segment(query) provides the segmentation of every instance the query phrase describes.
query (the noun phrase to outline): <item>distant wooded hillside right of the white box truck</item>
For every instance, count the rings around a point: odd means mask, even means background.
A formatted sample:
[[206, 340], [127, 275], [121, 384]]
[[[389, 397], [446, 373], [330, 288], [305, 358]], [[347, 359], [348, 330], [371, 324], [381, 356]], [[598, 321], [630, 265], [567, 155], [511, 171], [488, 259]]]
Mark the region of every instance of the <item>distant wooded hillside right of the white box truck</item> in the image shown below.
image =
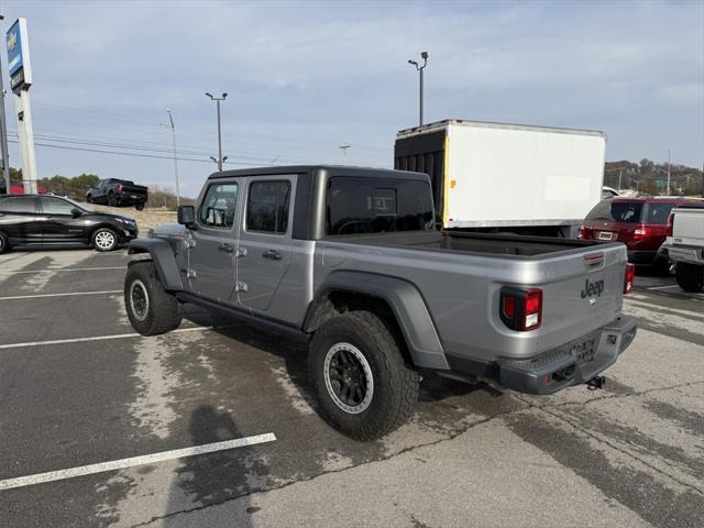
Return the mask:
[[[663, 195], [668, 186], [668, 164], [650, 160], [634, 162], [607, 162], [604, 185], [615, 189], [634, 189], [646, 195]], [[685, 165], [670, 166], [670, 194], [702, 196], [702, 170]]]

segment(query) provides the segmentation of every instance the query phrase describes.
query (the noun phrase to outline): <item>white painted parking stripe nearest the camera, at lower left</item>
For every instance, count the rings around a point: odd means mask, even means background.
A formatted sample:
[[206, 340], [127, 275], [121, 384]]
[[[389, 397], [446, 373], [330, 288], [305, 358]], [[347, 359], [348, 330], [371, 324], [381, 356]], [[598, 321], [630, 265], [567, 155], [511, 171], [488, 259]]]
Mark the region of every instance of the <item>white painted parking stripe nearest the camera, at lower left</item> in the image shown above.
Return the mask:
[[125, 468], [154, 464], [156, 462], [164, 462], [166, 460], [185, 459], [188, 457], [196, 457], [198, 454], [215, 453], [217, 451], [245, 448], [248, 446], [256, 446], [258, 443], [274, 441], [276, 441], [276, 437], [274, 436], [274, 433], [267, 432], [253, 437], [238, 438], [235, 440], [226, 440], [224, 442], [206, 443], [204, 446], [196, 446], [193, 448], [175, 449], [173, 451], [162, 451], [161, 453], [132, 457], [130, 459], [112, 460], [109, 462], [81, 465], [67, 470], [50, 471], [47, 473], [37, 473], [35, 475], [19, 476], [16, 479], [0, 481], [0, 491], [12, 490], [14, 487], [32, 486], [34, 484], [43, 484], [46, 482], [65, 481], [66, 479], [75, 479], [77, 476], [105, 473], [106, 471], [124, 470]]

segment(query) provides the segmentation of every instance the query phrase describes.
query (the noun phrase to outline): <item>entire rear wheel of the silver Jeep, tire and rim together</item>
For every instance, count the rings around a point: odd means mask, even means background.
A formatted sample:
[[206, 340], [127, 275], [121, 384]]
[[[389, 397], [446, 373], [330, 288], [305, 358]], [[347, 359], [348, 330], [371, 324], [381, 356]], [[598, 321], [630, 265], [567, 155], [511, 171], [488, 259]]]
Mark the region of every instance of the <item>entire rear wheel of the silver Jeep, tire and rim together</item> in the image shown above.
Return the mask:
[[387, 326], [369, 311], [326, 321], [310, 343], [308, 370], [322, 418], [355, 440], [397, 429], [418, 400], [418, 373], [404, 362]]

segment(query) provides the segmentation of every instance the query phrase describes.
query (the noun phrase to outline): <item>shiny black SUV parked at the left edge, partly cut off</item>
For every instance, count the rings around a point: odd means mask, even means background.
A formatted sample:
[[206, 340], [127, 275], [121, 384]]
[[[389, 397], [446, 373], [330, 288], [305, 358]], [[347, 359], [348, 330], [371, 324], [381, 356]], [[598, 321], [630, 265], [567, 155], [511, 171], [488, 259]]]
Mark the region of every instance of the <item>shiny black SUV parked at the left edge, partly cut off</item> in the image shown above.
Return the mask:
[[85, 244], [112, 251], [135, 239], [136, 222], [53, 195], [0, 195], [0, 253], [20, 245]]

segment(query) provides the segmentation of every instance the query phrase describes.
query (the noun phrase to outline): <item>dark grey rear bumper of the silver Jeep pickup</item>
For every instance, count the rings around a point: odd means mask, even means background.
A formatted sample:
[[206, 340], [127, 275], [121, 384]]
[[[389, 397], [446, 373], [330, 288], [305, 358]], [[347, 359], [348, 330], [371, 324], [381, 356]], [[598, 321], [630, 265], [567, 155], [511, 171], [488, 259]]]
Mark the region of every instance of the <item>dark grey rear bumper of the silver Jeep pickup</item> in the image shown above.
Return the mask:
[[453, 370], [526, 394], [552, 394], [586, 383], [613, 365], [636, 337], [638, 322], [620, 316], [605, 327], [530, 360], [493, 363], [448, 356]]

